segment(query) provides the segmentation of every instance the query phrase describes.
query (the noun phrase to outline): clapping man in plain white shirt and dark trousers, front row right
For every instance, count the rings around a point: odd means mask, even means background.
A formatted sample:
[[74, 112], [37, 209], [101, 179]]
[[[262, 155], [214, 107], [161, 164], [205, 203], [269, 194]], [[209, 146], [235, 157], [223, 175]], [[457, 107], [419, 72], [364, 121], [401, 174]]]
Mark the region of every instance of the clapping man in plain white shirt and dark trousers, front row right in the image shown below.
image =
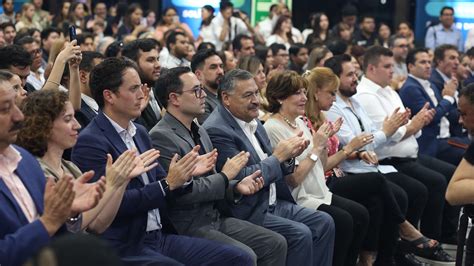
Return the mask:
[[[373, 46], [364, 55], [365, 76], [357, 86], [358, 93], [355, 97], [378, 128], [382, 127], [390, 114], [410, 112], [389, 86], [393, 65], [393, 53], [385, 47]], [[412, 120], [399, 127], [386, 144], [377, 147], [376, 151], [380, 164], [395, 166], [398, 171], [423, 183], [428, 190], [428, 200], [421, 216], [421, 232], [438, 241], [448, 239], [449, 244], [453, 244], [451, 238], [456, 237], [459, 209], [445, 205], [444, 195], [455, 167], [428, 155], [418, 155], [416, 137], [431, 122], [434, 114], [435, 111], [424, 103]], [[453, 261], [449, 256], [433, 257], [431, 260]]]

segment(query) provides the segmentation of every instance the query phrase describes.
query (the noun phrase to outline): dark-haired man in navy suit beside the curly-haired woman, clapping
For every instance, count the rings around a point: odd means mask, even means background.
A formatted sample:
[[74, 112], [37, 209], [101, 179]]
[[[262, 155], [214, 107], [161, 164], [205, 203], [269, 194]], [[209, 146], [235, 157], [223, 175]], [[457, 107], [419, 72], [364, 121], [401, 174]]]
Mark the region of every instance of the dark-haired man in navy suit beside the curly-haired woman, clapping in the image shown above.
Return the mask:
[[[104, 78], [107, 77], [107, 78]], [[108, 58], [97, 65], [90, 76], [92, 95], [101, 111], [80, 133], [72, 160], [80, 169], [105, 172], [107, 154], [118, 158], [127, 149], [141, 154], [144, 167], [155, 160], [146, 151], [152, 145], [147, 131], [132, 120], [140, 116], [142, 83], [136, 65], [128, 59]], [[179, 161], [174, 157], [168, 174], [163, 168], [151, 168], [130, 180], [115, 220], [102, 234], [130, 264], [167, 265], [215, 264], [249, 265], [250, 256], [239, 248], [213, 241], [166, 234], [166, 200], [174, 193], [192, 189], [188, 181], [197, 162], [194, 149]]]

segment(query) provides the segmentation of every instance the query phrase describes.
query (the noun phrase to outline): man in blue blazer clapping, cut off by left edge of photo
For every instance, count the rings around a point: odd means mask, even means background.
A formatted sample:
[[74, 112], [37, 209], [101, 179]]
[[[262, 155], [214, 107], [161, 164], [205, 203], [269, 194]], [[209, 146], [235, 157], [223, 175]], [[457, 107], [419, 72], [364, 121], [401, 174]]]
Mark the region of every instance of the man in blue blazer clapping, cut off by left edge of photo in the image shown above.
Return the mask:
[[74, 193], [71, 178], [63, 178], [53, 191], [38, 161], [11, 145], [24, 117], [8, 80], [0, 75], [0, 265], [20, 265], [68, 219]]

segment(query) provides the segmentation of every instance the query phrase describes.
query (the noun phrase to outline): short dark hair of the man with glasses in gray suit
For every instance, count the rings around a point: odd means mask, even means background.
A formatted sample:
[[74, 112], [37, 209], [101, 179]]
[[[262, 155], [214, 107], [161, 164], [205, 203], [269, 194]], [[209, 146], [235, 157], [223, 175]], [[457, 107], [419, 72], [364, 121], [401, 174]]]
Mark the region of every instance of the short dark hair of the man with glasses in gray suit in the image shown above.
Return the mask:
[[169, 95], [172, 92], [181, 92], [183, 90], [183, 81], [181, 75], [191, 72], [189, 67], [170, 68], [160, 76], [156, 81], [155, 95], [164, 108], [168, 107]]

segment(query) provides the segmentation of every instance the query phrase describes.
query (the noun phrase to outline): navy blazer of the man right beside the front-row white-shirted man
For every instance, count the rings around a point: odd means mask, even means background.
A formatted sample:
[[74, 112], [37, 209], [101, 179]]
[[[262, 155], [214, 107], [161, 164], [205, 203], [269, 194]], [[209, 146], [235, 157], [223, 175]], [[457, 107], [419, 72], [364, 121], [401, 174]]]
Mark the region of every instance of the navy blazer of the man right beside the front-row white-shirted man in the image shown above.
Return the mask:
[[[438, 74], [439, 75], [439, 74]], [[436, 114], [430, 124], [423, 128], [422, 134], [417, 138], [418, 145], [420, 147], [419, 152], [430, 156], [436, 156], [438, 151], [438, 138], [440, 130], [441, 118], [446, 116], [451, 123], [458, 123], [458, 112], [456, 106], [451, 104], [448, 100], [443, 99], [441, 92], [436, 88], [436, 85], [431, 82], [431, 88], [433, 89], [438, 105], [435, 106], [431, 101], [430, 96], [426, 93], [423, 86], [414, 78], [408, 77], [402, 88], [400, 89], [400, 98], [403, 104], [410, 108], [412, 114], [417, 114], [426, 102], [430, 103], [431, 108], [436, 110]]]

